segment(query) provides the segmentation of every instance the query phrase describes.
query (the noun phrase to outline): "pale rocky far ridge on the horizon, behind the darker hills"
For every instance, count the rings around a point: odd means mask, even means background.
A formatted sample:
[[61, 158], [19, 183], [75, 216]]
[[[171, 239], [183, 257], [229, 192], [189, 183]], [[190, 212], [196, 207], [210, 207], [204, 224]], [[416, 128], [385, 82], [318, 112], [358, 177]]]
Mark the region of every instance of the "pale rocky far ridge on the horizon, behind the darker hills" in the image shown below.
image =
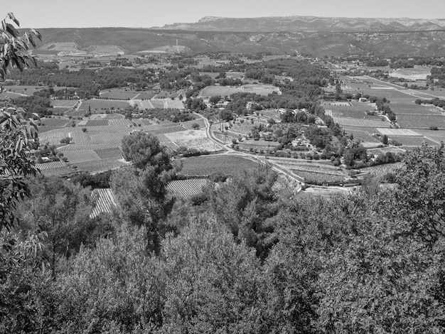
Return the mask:
[[345, 18], [318, 16], [272, 16], [225, 18], [206, 16], [196, 23], [173, 23], [166, 30], [232, 32], [365, 32], [445, 30], [444, 18]]

